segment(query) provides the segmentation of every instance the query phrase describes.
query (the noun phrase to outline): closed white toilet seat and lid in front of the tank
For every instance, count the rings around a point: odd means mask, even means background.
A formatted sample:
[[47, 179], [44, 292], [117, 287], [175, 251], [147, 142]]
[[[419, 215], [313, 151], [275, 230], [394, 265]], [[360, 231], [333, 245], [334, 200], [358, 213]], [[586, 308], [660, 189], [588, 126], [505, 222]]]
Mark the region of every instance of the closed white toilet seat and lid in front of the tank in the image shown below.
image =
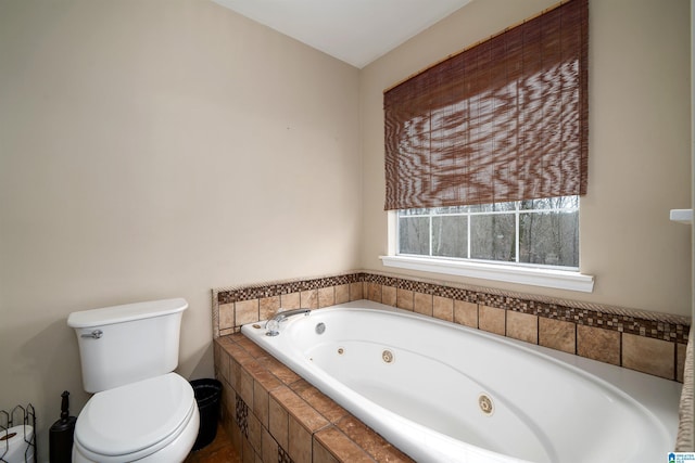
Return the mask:
[[140, 460], [172, 443], [195, 416], [191, 385], [176, 373], [96, 394], [77, 417], [75, 446], [93, 461]]

